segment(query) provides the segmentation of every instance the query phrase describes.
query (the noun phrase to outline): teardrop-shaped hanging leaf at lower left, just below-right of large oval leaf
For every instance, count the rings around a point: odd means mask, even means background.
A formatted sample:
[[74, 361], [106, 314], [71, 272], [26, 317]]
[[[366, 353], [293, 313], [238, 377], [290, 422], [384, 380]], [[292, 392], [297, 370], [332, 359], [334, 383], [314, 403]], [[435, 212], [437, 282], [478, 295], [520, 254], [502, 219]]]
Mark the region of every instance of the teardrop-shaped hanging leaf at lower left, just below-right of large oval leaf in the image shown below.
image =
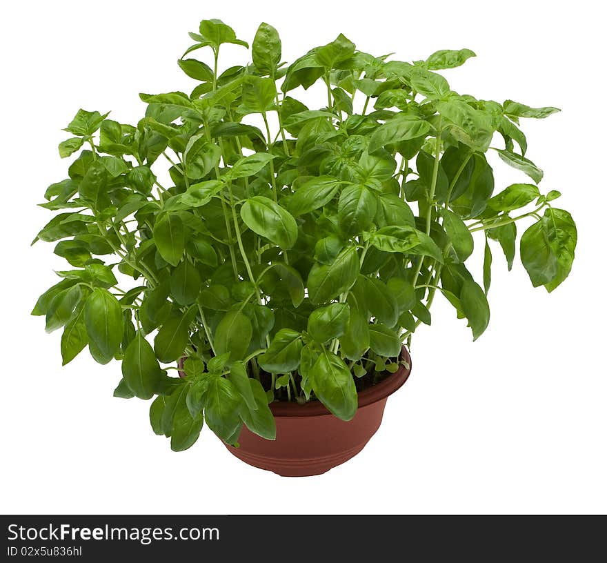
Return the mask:
[[157, 393], [163, 371], [150, 343], [137, 333], [128, 345], [122, 359], [122, 377], [128, 388], [139, 399], [150, 399]]

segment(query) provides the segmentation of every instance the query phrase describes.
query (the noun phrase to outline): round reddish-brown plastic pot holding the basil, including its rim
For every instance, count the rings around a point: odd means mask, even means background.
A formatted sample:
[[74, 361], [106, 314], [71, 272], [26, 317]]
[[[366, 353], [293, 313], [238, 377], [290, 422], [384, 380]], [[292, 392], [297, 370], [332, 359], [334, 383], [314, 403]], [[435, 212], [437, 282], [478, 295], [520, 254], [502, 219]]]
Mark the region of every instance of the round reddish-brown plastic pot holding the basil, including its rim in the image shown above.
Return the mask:
[[283, 477], [320, 475], [357, 455], [377, 432], [388, 397], [406, 382], [411, 358], [403, 346], [401, 359], [408, 364], [377, 385], [358, 394], [358, 411], [344, 422], [318, 401], [303, 405], [274, 402], [276, 439], [268, 440], [243, 426], [239, 447], [226, 444], [228, 451], [243, 462], [274, 471]]

